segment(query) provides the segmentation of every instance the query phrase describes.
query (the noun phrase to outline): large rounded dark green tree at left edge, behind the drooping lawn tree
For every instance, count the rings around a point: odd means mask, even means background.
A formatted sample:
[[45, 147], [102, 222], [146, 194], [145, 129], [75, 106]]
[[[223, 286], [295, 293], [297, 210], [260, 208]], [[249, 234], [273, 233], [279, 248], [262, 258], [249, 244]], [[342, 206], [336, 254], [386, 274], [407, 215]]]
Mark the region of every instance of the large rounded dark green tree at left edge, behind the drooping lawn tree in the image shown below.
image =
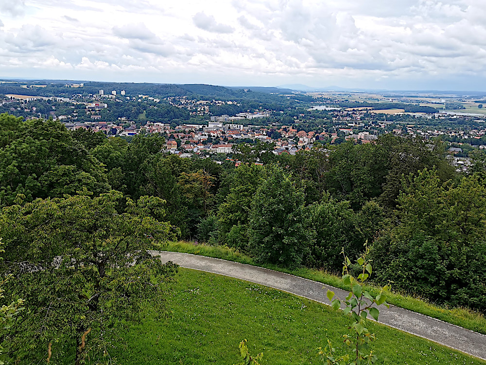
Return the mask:
[[35, 198], [109, 190], [104, 168], [60, 123], [0, 115], [0, 206]]

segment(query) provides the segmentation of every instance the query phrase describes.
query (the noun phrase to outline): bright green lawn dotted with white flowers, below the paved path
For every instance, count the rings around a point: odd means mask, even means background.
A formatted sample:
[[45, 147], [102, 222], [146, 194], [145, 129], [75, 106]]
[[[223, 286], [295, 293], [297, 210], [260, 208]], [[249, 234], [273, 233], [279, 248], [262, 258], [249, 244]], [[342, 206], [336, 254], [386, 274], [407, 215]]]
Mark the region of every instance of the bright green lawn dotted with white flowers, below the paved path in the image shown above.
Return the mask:
[[[226, 276], [180, 269], [168, 307], [172, 318], [152, 314], [126, 333], [120, 364], [238, 363], [238, 344], [263, 352], [261, 364], [317, 364], [317, 347], [329, 338], [346, 351], [341, 336], [350, 317], [330, 307]], [[377, 364], [482, 364], [486, 362], [396, 329], [371, 323]]]

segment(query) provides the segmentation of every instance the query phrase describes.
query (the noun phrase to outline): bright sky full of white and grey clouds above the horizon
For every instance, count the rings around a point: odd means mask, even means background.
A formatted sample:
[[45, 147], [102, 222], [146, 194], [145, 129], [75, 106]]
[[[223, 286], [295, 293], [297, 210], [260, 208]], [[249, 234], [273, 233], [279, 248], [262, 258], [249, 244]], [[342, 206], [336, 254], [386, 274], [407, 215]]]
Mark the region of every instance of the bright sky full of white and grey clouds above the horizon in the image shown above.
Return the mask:
[[0, 77], [486, 91], [486, 1], [0, 0]]

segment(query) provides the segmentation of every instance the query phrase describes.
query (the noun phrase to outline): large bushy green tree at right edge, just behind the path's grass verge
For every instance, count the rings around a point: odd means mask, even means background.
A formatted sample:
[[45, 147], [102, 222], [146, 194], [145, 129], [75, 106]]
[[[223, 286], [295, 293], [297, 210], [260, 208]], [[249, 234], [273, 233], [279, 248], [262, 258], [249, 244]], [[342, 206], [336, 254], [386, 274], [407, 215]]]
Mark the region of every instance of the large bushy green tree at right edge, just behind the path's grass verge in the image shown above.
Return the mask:
[[485, 310], [486, 181], [442, 184], [436, 170], [403, 180], [398, 225], [372, 246], [376, 273], [440, 303]]

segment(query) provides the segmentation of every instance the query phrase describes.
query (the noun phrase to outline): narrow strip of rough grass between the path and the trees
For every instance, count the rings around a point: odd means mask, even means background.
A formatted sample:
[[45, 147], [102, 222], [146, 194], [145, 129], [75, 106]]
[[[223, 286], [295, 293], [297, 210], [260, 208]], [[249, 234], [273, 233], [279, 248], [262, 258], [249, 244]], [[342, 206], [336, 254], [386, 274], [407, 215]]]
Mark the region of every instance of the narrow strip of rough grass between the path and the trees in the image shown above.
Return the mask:
[[[295, 270], [287, 270], [275, 265], [262, 265], [249, 256], [245, 256], [239, 252], [235, 252], [225, 246], [209, 246], [204, 244], [194, 245], [190, 242], [172, 242], [168, 246], [162, 248], [167, 251], [185, 252], [194, 255], [202, 255], [208, 257], [222, 258], [229, 261], [240, 262], [243, 264], [256, 265], [267, 269], [280, 271], [287, 274], [311, 279], [323, 284], [331, 285], [336, 288], [348, 290], [340, 276], [329, 274], [323, 270], [312, 270], [307, 268], [299, 268]], [[367, 287], [367, 290], [377, 294], [378, 287]], [[391, 292], [388, 294], [387, 302], [397, 307], [412, 310], [417, 313], [428, 315], [432, 318], [440, 319], [444, 322], [454, 324], [456, 326], [470, 329], [479, 333], [486, 334], [486, 318], [483, 314], [469, 310], [467, 308], [446, 308], [429, 303], [421, 298], [407, 295], [401, 292]]]

